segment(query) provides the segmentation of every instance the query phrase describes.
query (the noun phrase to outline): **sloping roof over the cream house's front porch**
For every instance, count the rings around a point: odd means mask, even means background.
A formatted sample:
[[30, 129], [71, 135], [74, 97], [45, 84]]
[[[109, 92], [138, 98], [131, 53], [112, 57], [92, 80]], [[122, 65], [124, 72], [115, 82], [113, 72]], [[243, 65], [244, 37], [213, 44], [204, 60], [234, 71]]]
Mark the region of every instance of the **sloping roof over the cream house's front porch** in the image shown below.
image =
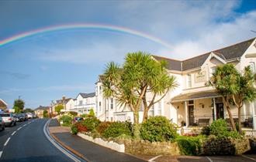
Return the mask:
[[220, 96], [216, 90], [209, 90], [203, 92], [195, 92], [195, 93], [183, 93], [175, 96], [171, 99], [171, 103], [182, 102], [187, 100], [198, 100], [203, 98], [213, 98]]

